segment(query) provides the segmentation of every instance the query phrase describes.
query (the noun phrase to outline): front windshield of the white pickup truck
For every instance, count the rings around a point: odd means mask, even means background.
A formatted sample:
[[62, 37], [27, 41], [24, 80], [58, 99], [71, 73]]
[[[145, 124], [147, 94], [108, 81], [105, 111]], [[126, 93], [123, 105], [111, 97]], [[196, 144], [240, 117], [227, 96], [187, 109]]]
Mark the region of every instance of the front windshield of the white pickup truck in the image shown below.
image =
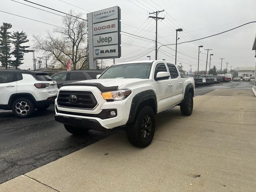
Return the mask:
[[129, 63], [113, 65], [108, 68], [99, 79], [114, 78], [140, 78], [148, 79], [150, 75], [152, 62], [150, 63]]

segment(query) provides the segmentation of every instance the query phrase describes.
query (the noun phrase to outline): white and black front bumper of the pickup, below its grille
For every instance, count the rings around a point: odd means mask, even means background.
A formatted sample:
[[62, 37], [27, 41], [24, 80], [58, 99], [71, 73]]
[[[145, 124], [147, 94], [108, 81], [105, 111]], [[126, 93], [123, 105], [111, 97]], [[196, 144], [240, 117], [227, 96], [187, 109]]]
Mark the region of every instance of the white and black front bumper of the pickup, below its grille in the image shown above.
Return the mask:
[[[55, 120], [63, 124], [84, 127], [92, 130], [106, 130], [125, 125], [128, 121], [132, 101], [129, 98], [119, 101], [106, 102], [97, 98], [99, 105], [94, 110], [64, 108], [57, 105], [55, 100]], [[114, 109], [116, 116], [102, 118], [104, 111]], [[69, 113], [69, 114], [67, 114]]]

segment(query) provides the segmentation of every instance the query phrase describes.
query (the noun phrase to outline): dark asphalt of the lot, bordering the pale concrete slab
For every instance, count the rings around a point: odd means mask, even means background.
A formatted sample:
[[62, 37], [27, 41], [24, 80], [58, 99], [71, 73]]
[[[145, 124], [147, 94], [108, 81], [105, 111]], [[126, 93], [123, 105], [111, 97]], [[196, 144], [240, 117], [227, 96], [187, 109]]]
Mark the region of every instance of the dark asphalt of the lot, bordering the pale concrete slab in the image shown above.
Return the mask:
[[[251, 90], [252, 82], [227, 82], [196, 88], [195, 96], [215, 89]], [[48, 164], [102, 140], [111, 133], [90, 131], [88, 136], [70, 135], [54, 120], [54, 106], [34, 116], [18, 119], [0, 112], [0, 183]]]

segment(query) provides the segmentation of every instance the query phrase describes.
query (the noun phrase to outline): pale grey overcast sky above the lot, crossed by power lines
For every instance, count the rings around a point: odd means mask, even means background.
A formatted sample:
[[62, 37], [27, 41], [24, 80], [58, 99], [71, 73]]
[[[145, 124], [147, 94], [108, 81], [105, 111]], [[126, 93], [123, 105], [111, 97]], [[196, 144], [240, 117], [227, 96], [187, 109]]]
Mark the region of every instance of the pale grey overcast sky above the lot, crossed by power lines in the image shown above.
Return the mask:
[[[30, 4], [23, 0], [16, 0], [25, 4]], [[155, 38], [155, 21], [148, 18], [148, 12], [162, 10], [160, 17], [165, 17], [158, 24], [158, 42], [162, 44], [175, 43], [175, 29], [183, 28], [180, 32], [178, 42], [202, 38], [234, 28], [250, 21], [256, 21], [256, 0], [64, 0], [77, 7], [66, 4], [60, 0], [31, 0], [62, 12], [68, 12], [70, 9], [84, 13], [88, 11], [97, 11], [112, 6], [121, 8], [121, 30], [124, 32], [144, 36], [149, 39]], [[28, 7], [11, 0], [1, 0], [0, 10], [10, 12], [20, 16], [33, 18], [42, 22], [54, 25], [61, 25], [61, 16], [47, 13], [32, 7]], [[136, 4], [136, 5], [135, 5]], [[32, 5], [32, 4], [30, 4]], [[85, 10], [83, 10], [83, 9]], [[32, 35], [46, 35], [46, 30], [53, 30], [53, 26], [40, 22], [20, 18], [0, 12], [0, 23], [8, 22], [12, 24], [13, 31], [23, 30], [30, 39], [29, 45], [32, 45]], [[140, 29], [138, 29], [140, 28]], [[236, 30], [220, 34], [211, 38], [178, 45], [177, 63], [182, 63], [185, 70], [189, 70], [192, 65], [192, 71], [197, 70], [198, 45], [203, 45], [202, 53], [207, 53], [204, 49], [213, 49], [209, 51], [212, 56], [211, 65], [214, 64], [220, 69], [220, 59], [223, 60], [222, 69], [228, 69], [230, 66], [238, 67], [255, 66], [254, 51], [252, 43], [256, 34], [256, 23], [248, 24]], [[154, 42], [144, 41], [122, 35], [122, 57], [116, 61], [128, 61], [133, 58], [146, 60], [146, 56], [154, 59]], [[144, 48], [142, 48], [144, 47]], [[175, 50], [175, 46], [170, 46]], [[175, 51], [162, 47], [158, 53], [158, 59], [166, 59], [174, 62]], [[152, 52], [150, 52], [152, 49]], [[150, 52], [150, 53], [149, 53]], [[182, 54], [183, 53], [183, 54]], [[146, 54], [146, 55], [145, 55]], [[143, 56], [145, 55], [145, 56]], [[43, 56], [36, 54], [36, 56]], [[200, 59], [206, 61], [206, 55], [200, 54]], [[209, 59], [208, 59], [209, 60]], [[104, 61], [106, 65], [112, 65], [112, 60]], [[25, 55], [23, 69], [32, 68], [32, 53]], [[200, 70], [205, 70], [206, 62], [200, 61]]]

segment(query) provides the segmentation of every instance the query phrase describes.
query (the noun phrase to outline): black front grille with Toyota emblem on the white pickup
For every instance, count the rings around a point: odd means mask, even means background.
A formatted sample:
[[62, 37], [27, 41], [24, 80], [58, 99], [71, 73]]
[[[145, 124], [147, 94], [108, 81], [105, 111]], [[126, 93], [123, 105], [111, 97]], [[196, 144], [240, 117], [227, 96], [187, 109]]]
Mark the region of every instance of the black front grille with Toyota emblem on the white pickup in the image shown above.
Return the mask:
[[58, 94], [58, 106], [68, 108], [93, 109], [98, 104], [91, 91], [65, 91]]

